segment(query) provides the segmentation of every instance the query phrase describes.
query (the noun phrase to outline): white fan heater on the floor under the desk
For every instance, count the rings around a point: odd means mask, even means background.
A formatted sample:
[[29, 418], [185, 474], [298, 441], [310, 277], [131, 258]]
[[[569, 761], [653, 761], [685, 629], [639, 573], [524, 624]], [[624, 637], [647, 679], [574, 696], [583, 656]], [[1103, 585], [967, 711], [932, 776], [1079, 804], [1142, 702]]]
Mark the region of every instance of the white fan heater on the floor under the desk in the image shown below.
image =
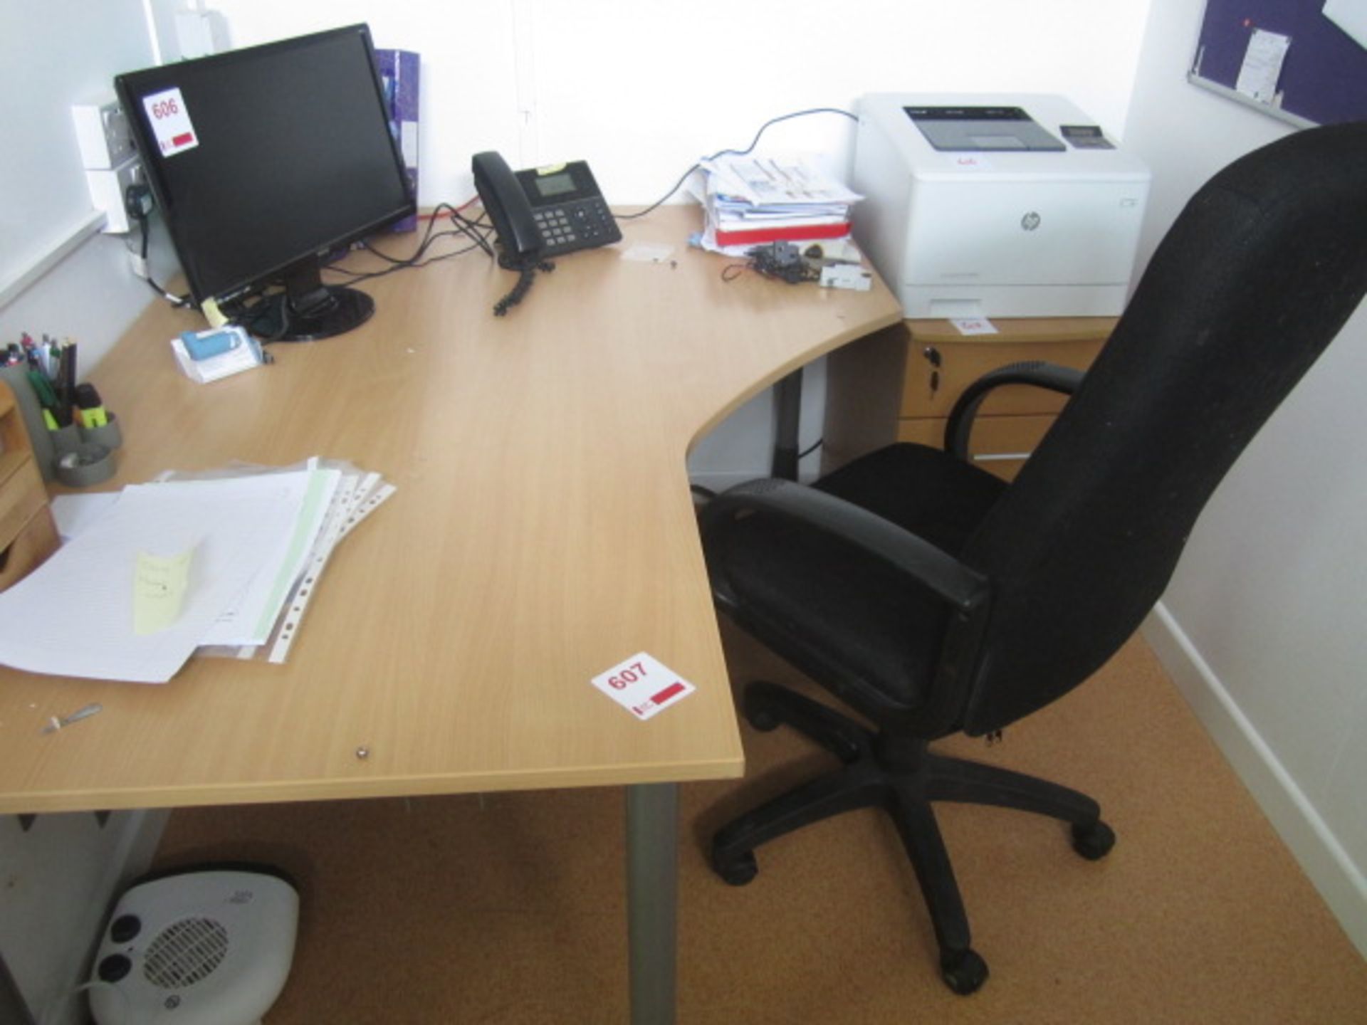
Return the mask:
[[209, 869], [131, 887], [100, 942], [98, 1025], [257, 1025], [284, 988], [299, 895], [257, 871]]

